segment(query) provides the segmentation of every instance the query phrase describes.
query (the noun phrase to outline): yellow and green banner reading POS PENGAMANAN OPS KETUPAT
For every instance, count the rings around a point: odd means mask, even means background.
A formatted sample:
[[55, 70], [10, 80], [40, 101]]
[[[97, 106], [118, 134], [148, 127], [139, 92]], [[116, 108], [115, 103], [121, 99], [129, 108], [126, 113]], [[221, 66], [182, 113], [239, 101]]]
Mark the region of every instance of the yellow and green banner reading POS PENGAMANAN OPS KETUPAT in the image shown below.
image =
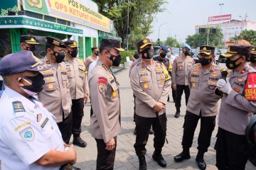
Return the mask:
[[23, 0], [25, 11], [41, 13], [110, 33], [109, 18], [85, 6], [82, 0]]

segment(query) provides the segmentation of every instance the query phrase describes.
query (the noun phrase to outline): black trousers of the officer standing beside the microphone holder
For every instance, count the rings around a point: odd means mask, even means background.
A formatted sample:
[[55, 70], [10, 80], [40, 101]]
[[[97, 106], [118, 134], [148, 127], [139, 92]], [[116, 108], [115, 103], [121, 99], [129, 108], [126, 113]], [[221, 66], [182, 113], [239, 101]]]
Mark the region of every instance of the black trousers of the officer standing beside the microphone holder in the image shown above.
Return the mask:
[[195, 133], [198, 120], [201, 119], [201, 127], [198, 136], [198, 156], [203, 157], [203, 154], [208, 151], [208, 147], [210, 146], [210, 138], [215, 128], [215, 118], [216, 116], [202, 117], [201, 114], [196, 115], [186, 111], [184, 118], [185, 121], [183, 124], [183, 149], [189, 149], [192, 146], [193, 135]]

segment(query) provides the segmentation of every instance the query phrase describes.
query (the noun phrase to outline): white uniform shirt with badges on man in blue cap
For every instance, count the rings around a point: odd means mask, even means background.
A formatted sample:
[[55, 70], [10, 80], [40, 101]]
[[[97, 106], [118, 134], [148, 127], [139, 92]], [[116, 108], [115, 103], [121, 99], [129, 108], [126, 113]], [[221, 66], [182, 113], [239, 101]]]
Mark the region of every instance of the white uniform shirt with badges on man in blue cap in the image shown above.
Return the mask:
[[[36, 98], [25, 98], [6, 89], [0, 100], [0, 159], [6, 170], [58, 170], [35, 162], [52, 149], [63, 152], [55, 117]], [[49, 145], [50, 144], [50, 145]]]

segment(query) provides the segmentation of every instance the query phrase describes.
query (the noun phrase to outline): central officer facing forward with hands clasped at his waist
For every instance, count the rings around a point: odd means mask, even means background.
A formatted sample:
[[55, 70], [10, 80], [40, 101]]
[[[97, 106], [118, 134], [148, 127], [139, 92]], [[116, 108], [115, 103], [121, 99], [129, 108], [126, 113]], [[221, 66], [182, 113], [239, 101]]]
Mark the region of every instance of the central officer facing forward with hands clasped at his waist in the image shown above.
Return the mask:
[[136, 142], [134, 148], [139, 157], [139, 169], [146, 169], [146, 142], [149, 138], [151, 125], [154, 130], [153, 159], [162, 167], [166, 161], [161, 155], [166, 137], [165, 105], [171, 89], [171, 76], [166, 67], [155, 62], [152, 57], [154, 49], [149, 39], [137, 42], [139, 53], [142, 55], [140, 63], [136, 64], [130, 75], [130, 82], [134, 92], [136, 104]]

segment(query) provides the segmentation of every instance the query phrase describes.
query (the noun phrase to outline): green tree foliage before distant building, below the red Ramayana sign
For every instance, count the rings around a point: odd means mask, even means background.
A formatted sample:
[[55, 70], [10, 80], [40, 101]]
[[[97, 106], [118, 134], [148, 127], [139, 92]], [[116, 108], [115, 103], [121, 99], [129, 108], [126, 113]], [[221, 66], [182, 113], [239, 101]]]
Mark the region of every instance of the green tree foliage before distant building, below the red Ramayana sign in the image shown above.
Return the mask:
[[[220, 32], [220, 28], [217, 28], [217, 34], [209, 34], [209, 45], [218, 46], [219, 40], [223, 40], [223, 33]], [[207, 44], [207, 34], [193, 34], [188, 35], [186, 43], [191, 47], [199, 47], [200, 45]], [[220, 42], [223, 44], [223, 42]]]

